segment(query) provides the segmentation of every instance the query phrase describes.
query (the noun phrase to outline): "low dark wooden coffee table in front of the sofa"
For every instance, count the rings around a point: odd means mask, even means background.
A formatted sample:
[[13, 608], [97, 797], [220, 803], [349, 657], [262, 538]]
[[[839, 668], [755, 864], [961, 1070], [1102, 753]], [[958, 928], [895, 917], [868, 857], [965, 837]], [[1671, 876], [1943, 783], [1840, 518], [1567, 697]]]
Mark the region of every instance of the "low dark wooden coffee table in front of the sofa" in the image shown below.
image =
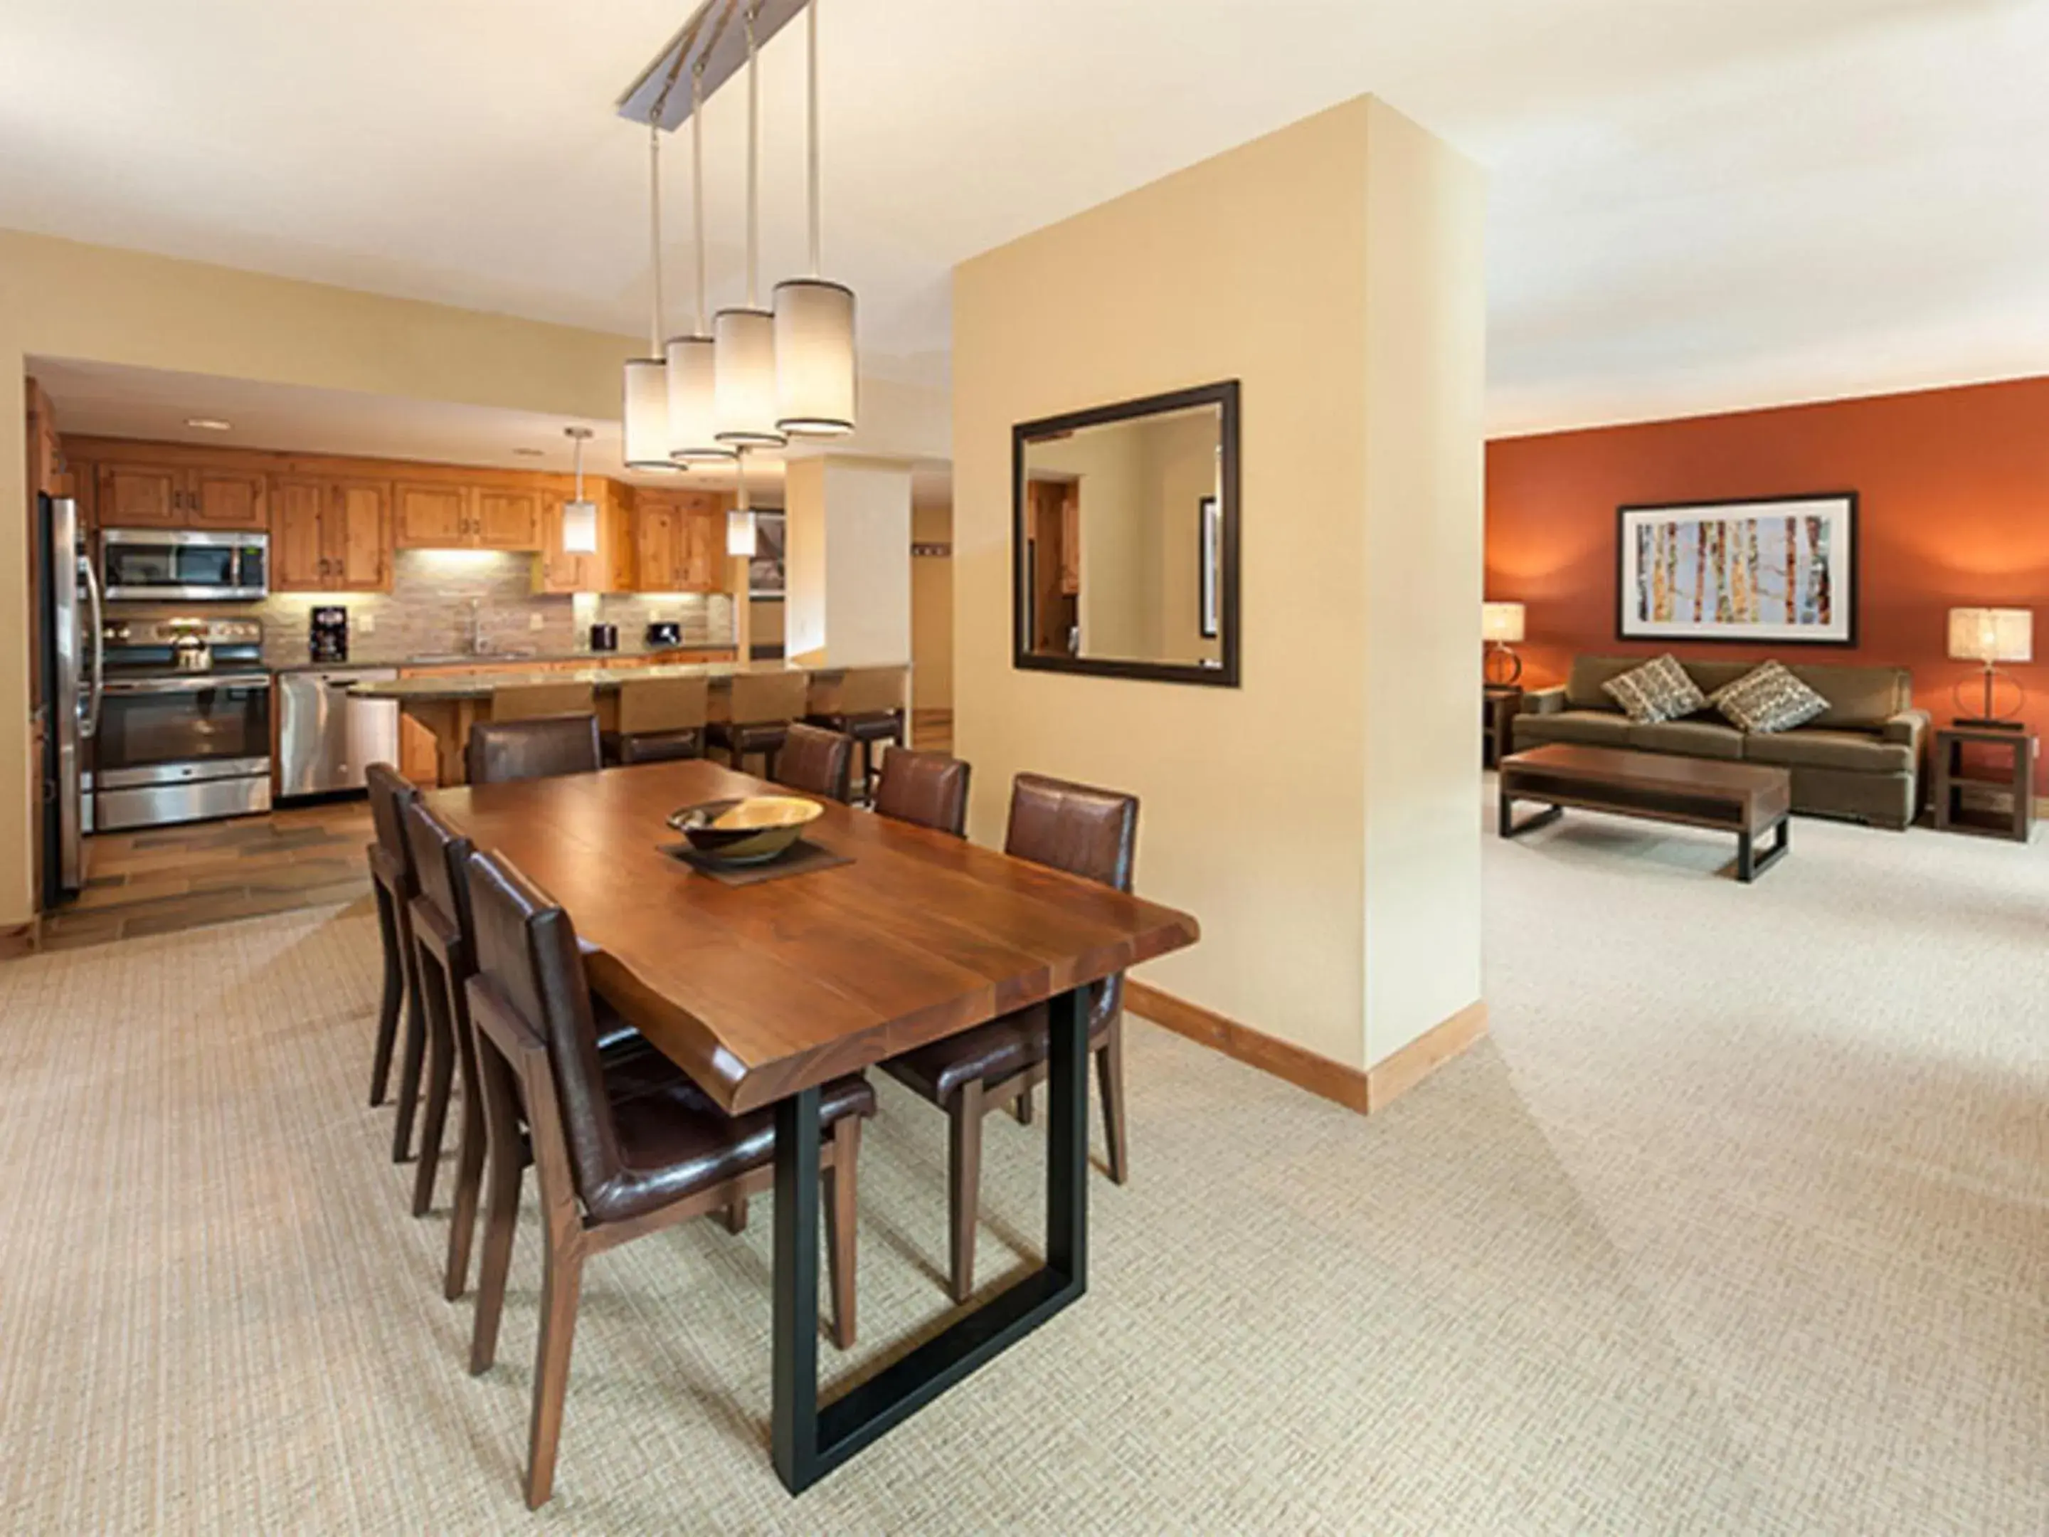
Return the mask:
[[[1754, 881], [1793, 846], [1793, 777], [1756, 762], [1553, 742], [1502, 758], [1500, 787], [1504, 838], [1557, 822], [1567, 805], [1717, 828], [1736, 834], [1740, 881]], [[1549, 809], [1518, 824], [1516, 801], [1545, 801]], [[1758, 840], [1768, 832], [1776, 838], [1760, 853]]]

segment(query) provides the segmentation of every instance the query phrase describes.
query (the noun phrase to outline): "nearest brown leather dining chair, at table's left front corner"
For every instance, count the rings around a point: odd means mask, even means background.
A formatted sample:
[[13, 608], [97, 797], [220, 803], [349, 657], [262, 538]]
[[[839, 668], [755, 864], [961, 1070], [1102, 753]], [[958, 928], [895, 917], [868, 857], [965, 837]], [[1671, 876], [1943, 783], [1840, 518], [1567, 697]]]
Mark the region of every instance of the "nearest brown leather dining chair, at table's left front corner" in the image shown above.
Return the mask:
[[[731, 1211], [736, 1201], [768, 1189], [775, 1109], [729, 1117], [682, 1070], [629, 1082], [611, 1068], [598, 1051], [570, 914], [508, 861], [469, 857], [469, 910], [477, 941], [469, 1016], [490, 1141], [469, 1369], [490, 1369], [498, 1344], [518, 1219], [525, 1100], [547, 1252], [527, 1439], [527, 1504], [539, 1508], [555, 1482], [584, 1262], [684, 1217]], [[834, 1342], [842, 1351], [854, 1342], [856, 1162], [861, 1121], [873, 1113], [875, 1090], [859, 1074], [836, 1078], [820, 1094], [826, 1262]]]

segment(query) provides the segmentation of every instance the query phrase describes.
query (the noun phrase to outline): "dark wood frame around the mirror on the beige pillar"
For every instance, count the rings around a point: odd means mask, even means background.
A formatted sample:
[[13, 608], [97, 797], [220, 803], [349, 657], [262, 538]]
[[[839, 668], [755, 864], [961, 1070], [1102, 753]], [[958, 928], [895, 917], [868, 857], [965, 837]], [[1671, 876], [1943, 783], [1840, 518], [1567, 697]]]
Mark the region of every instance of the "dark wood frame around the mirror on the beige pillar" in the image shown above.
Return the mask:
[[[1129, 422], [1164, 412], [1217, 408], [1221, 463], [1217, 494], [1223, 498], [1217, 551], [1217, 617], [1221, 666], [1195, 662], [1145, 662], [1139, 658], [1049, 656], [1031, 646], [1031, 535], [1024, 492], [1024, 451], [1043, 439], [1063, 437], [1084, 426]], [[1010, 664], [1027, 672], [1082, 672], [1098, 678], [1149, 678], [1154, 682], [1201, 682], [1211, 689], [1238, 687], [1238, 379], [1174, 389], [1166, 396], [1092, 406], [1065, 416], [1043, 416], [1010, 428]]]

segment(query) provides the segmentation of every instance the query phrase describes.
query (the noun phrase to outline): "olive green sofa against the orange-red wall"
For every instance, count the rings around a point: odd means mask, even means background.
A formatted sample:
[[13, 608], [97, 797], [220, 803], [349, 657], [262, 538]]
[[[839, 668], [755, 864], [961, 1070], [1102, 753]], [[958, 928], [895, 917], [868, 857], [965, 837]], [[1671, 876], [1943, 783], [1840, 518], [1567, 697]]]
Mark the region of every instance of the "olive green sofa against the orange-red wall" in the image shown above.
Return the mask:
[[[1582, 656], [1555, 689], [1522, 695], [1514, 748], [1578, 742], [1684, 758], [1762, 762], [1793, 775], [1793, 809], [1840, 816], [1879, 828], [1908, 828], [1920, 816], [1928, 711], [1914, 709], [1906, 668], [1789, 662], [1828, 701], [1828, 711], [1791, 732], [1740, 732], [1713, 707], [1678, 721], [1635, 725], [1602, 691], [1608, 678], [1643, 666], [1643, 656]], [[1701, 693], [1713, 695], [1756, 662], [1680, 662]]]

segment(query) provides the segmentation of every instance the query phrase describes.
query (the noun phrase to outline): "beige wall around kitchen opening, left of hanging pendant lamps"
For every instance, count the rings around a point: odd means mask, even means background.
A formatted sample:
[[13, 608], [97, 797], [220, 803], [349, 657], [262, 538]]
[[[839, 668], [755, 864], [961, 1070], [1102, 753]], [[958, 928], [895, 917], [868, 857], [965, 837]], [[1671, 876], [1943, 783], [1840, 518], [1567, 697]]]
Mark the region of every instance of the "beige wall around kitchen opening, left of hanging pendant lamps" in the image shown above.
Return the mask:
[[[127, 363], [410, 400], [611, 416], [625, 336], [0, 232], [0, 465], [20, 465], [31, 357]], [[27, 547], [0, 473], [0, 549]], [[0, 928], [31, 914], [27, 562], [0, 559]]]

